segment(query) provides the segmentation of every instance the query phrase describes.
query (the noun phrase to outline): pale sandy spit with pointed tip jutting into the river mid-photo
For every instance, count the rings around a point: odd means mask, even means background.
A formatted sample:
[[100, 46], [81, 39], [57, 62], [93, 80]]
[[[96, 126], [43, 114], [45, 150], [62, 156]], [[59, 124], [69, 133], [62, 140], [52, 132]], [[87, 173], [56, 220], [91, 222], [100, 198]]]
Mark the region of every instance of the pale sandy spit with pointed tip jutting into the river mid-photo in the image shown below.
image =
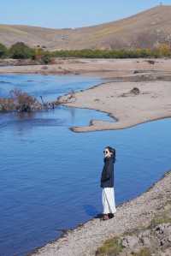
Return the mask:
[[[100, 110], [115, 117], [116, 122], [92, 120], [90, 125], [75, 127], [75, 132], [129, 128], [143, 122], [171, 116], [170, 81], [107, 82], [72, 98], [63, 96], [68, 106]], [[139, 95], [131, 92], [138, 87]]]

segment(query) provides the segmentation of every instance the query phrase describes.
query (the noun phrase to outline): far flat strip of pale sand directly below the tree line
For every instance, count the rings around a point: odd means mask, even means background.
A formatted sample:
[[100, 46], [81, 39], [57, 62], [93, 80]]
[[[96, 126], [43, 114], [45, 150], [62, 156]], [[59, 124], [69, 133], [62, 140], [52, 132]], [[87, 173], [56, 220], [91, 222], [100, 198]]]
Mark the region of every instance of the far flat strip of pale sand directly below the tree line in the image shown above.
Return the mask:
[[81, 59], [56, 58], [54, 64], [19, 64], [6, 60], [0, 65], [0, 74], [98, 74], [104, 78], [117, 78], [137, 74], [170, 75], [171, 59]]

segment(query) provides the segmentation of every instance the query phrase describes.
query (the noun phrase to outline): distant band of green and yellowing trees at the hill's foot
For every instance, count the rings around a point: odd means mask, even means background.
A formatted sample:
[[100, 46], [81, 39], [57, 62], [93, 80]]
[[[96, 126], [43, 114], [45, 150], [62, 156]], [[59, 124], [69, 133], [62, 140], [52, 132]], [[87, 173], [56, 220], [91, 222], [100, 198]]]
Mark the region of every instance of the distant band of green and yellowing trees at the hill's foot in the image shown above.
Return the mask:
[[15, 43], [10, 48], [0, 44], [0, 58], [32, 59], [40, 63], [52, 63], [54, 57], [84, 57], [84, 58], [139, 58], [139, 57], [171, 57], [171, 46], [160, 44], [152, 49], [118, 49], [118, 50], [62, 50], [46, 51], [40, 46], [31, 48], [22, 42]]

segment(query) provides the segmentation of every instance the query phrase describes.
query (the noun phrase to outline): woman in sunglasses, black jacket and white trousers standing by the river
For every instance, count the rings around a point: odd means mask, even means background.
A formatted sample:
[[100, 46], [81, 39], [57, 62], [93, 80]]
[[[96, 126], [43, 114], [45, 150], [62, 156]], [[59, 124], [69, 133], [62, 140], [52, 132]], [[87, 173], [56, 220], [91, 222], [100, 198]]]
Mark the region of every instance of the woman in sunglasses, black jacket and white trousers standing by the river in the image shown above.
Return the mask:
[[104, 151], [104, 165], [101, 176], [101, 188], [103, 188], [103, 220], [114, 217], [115, 192], [114, 192], [114, 163], [115, 149], [107, 146]]

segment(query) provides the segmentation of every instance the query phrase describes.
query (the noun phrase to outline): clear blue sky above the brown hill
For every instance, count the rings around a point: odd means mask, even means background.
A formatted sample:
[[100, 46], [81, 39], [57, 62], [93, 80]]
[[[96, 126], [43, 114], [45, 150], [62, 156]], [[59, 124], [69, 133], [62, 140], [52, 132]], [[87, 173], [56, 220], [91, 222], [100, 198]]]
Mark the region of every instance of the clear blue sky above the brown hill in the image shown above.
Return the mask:
[[[0, 24], [85, 27], [119, 20], [159, 3], [156, 0], [0, 0]], [[171, 4], [171, 0], [162, 3]]]

